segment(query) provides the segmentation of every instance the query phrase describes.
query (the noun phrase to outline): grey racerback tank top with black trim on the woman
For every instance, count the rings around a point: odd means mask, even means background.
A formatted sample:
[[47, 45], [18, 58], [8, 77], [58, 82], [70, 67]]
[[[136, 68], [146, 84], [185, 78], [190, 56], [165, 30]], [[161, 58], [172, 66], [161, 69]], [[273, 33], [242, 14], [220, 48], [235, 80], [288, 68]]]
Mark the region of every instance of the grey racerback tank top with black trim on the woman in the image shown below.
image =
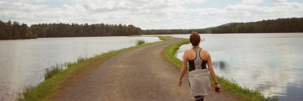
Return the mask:
[[196, 51], [196, 58], [194, 60], [188, 60], [188, 64], [189, 64], [188, 71], [207, 69], [207, 67], [206, 67], [207, 61], [202, 60], [200, 57], [200, 50], [202, 48], [193, 47], [192, 49], [194, 49]]

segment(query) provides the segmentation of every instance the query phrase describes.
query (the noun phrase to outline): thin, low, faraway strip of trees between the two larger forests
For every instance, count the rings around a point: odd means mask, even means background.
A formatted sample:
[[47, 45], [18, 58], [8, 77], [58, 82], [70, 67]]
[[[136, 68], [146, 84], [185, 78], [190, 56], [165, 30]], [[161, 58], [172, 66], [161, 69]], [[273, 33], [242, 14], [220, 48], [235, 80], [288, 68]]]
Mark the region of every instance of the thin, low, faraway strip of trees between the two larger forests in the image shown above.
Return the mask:
[[204, 29], [159, 29], [159, 30], [143, 30], [144, 35], [163, 35], [163, 34], [190, 34], [191, 32], [198, 32], [199, 34], [207, 33]]

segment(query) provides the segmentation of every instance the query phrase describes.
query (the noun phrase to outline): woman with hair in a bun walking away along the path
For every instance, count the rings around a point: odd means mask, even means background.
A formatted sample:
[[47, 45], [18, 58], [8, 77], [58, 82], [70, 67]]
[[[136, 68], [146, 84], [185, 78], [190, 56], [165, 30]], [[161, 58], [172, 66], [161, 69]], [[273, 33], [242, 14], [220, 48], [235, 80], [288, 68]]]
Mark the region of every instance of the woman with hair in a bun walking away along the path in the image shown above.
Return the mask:
[[[202, 49], [199, 44], [201, 41], [200, 35], [197, 32], [192, 32], [189, 41], [192, 44], [192, 48], [185, 50], [183, 56], [183, 65], [181, 68], [178, 85], [182, 85], [182, 78], [187, 70], [187, 63], [189, 64], [189, 86], [191, 87], [191, 96], [196, 101], [204, 101], [204, 96], [207, 96], [210, 92], [210, 78], [215, 81], [215, 87], [220, 87], [214, 69], [211, 64], [211, 56], [207, 50]], [[208, 68], [206, 67], [206, 64]], [[209, 73], [208, 73], [209, 71]], [[218, 90], [221, 92], [221, 88]]]

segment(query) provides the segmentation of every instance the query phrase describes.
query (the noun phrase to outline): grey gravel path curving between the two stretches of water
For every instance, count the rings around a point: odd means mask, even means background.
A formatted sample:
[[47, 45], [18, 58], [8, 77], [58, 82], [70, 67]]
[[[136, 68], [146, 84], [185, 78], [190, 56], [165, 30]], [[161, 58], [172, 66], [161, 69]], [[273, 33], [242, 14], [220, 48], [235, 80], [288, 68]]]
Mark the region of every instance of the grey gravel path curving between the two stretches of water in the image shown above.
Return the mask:
[[[180, 71], [161, 51], [183, 39], [150, 44], [123, 51], [65, 86], [53, 101], [194, 101], [188, 76], [178, 86]], [[238, 101], [235, 96], [213, 90], [206, 101]]]

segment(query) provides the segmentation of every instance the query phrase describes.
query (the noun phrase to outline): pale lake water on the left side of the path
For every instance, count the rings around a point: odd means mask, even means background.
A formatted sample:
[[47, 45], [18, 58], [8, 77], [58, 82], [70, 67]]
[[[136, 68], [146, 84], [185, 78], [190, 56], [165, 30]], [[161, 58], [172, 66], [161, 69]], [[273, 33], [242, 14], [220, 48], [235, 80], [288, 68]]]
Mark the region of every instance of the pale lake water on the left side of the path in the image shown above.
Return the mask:
[[65, 37], [0, 40], [0, 101], [12, 101], [25, 87], [44, 80], [44, 69], [109, 50], [160, 41], [158, 37]]

